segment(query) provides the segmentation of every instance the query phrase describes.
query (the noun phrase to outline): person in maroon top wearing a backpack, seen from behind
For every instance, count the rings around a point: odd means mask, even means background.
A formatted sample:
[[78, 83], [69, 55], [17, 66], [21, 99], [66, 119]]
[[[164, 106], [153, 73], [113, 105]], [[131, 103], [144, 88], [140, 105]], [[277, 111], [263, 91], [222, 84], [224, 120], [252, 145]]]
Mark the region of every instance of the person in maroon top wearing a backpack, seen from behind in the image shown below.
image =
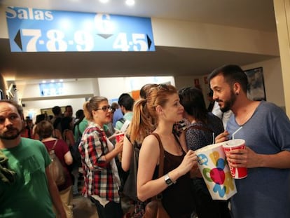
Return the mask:
[[46, 149], [50, 151], [53, 149], [55, 151], [55, 155], [62, 163], [65, 172], [65, 182], [64, 184], [57, 186], [60, 191], [60, 198], [62, 199], [62, 205], [64, 206], [64, 210], [67, 213], [67, 218], [72, 218], [73, 210], [72, 210], [72, 182], [71, 176], [69, 175], [68, 165], [72, 163], [71, 152], [69, 151], [69, 147], [67, 147], [67, 143], [65, 143], [62, 139], [56, 139], [53, 137], [53, 124], [49, 121], [41, 121], [36, 125], [36, 133], [41, 138], [41, 142], [46, 146]]

